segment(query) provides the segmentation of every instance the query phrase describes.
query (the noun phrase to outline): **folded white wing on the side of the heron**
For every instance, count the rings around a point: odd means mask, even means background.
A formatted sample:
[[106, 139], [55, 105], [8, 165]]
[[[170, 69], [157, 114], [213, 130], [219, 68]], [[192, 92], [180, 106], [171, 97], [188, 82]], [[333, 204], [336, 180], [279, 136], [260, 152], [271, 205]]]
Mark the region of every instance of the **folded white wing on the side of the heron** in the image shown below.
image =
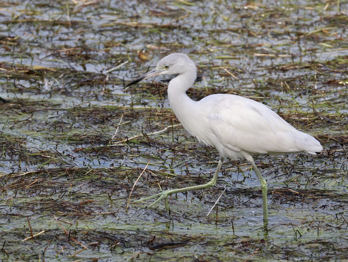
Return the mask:
[[318, 146], [315, 138], [292, 127], [266, 105], [232, 95], [217, 95], [211, 101], [207, 103], [207, 121], [218, 150], [225, 147], [251, 154], [316, 152], [310, 148]]

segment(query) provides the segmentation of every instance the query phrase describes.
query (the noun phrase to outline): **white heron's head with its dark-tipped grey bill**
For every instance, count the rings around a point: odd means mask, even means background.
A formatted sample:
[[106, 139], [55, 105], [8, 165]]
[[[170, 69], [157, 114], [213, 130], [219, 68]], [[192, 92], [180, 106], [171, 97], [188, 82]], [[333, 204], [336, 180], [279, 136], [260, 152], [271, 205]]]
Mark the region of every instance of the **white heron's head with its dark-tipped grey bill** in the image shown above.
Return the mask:
[[183, 74], [183, 73], [197, 73], [197, 68], [195, 63], [189, 58], [187, 54], [174, 53], [167, 55], [159, 61], [156, 68], [150, 72], [144, 74], [143, 76], [130, 82], [128, 86], [134, 85], [143, 79], [148, 79], [150, 77], [160, 76], [162, 74]]

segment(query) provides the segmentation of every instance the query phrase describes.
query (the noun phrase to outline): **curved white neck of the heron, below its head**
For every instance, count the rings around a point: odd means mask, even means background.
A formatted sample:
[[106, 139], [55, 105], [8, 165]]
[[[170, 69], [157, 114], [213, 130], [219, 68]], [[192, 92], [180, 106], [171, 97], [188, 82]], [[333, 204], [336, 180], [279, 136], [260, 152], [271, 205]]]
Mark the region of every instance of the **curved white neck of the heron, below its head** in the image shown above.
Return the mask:
[[182, 124], [184, 124], [183, 119], [185, 118], [185, 114], [191, 109], [193, 110], [193, 104], [196, 103], [196, 101], [193, 101], [186, 94], [187, 89], [193, 85], [196, 77], [197, 73], [195, 71], [187, 71], [173, 78], [168, 84], [167, 92], [169, 103], [177, 119], [179, 119]]

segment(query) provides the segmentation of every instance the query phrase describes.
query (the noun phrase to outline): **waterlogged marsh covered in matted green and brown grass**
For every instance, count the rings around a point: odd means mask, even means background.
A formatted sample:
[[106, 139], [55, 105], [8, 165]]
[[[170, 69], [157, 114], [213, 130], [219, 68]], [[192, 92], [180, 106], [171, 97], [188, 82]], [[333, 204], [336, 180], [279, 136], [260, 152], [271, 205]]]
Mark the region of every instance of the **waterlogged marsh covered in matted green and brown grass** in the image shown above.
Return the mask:
[[[2, 261], [347, 259], [346, 1], [0, 8]], [[166, 79], [125, 89], [175, 52], [203, 76], [193, 99], [252, 98], [324, 146], [317, 156], [255, 157], [269, 189], [267, 231], [244, 160], [225, 161], [213, 188], [172, 196], [170, 215], [163, 202], [132, 204], [205, 183], [216, 168], [216, 150], [171, 111]]]

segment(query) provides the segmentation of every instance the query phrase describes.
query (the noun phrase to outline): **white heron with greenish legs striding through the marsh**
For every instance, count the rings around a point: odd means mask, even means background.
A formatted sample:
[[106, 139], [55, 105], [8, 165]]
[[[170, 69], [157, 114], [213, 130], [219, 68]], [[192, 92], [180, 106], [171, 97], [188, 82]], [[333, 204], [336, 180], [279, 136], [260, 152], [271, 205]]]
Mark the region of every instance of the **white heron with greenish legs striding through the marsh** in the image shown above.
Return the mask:
[[263, 222], [267, 225], [267, 184], [256, 167], [252, 155], [298, 152], [316, 154], [323, 150], [321, 144], [313, 136], [292, 127], [267, 105], [249, 98], [231, 94], [213, 94], [200, 101], [193, 101], [187, 96], [186, 91], [196, 79], [197, 68], [186, 54], [174, 53], [162, 58], [155, 69], [130, 82], [127, 87], [143, 79], [166, 74], [178, 75], [169, 82], [167, 90], [169, 103], [177, 119], [199, 141], [214, 146], [220, 153], [220, 159], [214, 176], [208, 183], [165, 190], [135, 202], [158, 197], [148, 207], [164, 199], [165, 208], [169, 211], [167, 199], [169, 195], [210, 188], [216, 183], [224, 158], [246, 159], [251, 163], [261, 182]]

